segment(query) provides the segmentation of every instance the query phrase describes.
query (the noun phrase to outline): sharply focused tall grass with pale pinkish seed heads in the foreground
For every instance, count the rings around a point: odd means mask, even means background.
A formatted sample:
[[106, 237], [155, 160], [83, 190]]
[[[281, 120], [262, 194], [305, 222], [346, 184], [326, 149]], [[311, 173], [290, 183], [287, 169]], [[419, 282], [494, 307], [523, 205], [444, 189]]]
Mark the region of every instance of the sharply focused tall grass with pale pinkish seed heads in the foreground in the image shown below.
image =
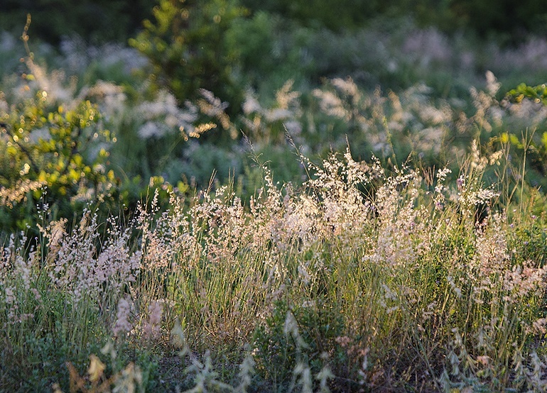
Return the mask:
[[39, 238], [12, 236], [2, 389], [106, 392], [128, 375], [192, 392], [546, 386], [543, 201], [484, 188], [504, 155], [475, 147], [453, 183], [349, 148], [302, 160], [303, 187], [264, 168], [248, 205], [230, 187], [166, 210], [155, 194], [124, 225], [88, 212], [69, 230], [45, 211]]

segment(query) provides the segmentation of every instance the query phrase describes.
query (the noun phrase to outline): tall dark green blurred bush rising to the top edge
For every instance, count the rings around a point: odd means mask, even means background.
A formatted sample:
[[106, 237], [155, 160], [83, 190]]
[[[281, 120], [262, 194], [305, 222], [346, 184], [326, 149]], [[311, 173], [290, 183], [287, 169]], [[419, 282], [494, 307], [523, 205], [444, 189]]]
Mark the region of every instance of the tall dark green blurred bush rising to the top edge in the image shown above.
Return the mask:
[[170, 89], [180, 104], [206, 89], [237, 111], [243, 89], [234, 78], [238, 52], [227, 31], [245, 14], [237, 0], [159, 0], [156, 21], [144, 21], [129, 44], [151, 61], [153, 84]]

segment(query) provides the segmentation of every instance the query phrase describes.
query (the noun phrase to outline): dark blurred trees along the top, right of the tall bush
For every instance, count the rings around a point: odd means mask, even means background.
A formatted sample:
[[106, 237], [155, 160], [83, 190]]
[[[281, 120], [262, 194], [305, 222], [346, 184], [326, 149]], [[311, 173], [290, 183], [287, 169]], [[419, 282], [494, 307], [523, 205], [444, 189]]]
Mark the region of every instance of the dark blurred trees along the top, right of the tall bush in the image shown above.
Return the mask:
[[443, 31], [467, 28], [480, 35], [544, 33], [547, 1], [528, 0], [242, 0], [252, 11], [278, 13], [306, 26], [338, 31], [359, 28], [377, 16], [411, 16]]

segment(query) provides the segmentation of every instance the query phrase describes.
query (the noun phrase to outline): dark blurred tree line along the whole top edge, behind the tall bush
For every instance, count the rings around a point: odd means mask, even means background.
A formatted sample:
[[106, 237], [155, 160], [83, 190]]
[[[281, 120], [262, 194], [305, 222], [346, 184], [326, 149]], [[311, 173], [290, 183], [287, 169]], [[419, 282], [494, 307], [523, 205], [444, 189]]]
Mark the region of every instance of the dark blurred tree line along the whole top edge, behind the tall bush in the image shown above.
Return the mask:
[[[190, 10], [216, 4], [222, 8], [223, 3], [231, 1], [188, 0], [179, 7]], [[1, 0], [0, 28], [19, 33], [26, 14], [31, 13], [33, 33], [50, 43], [73, 33], [92, 42], [124, 41], [139, 31], [143, 19], [151, 18], [156, 4], [156, 0]], [[359, 28], [377, 16], [411, 16], [423, 26], [435, 25], [443, 31], [467, 28], [480, 35], [501, 33], [514, 39], [547, 31], [544, 0], [241, 0], [241, 4], [253, 12], [276, 13], [306, 27], [333, 31]]]

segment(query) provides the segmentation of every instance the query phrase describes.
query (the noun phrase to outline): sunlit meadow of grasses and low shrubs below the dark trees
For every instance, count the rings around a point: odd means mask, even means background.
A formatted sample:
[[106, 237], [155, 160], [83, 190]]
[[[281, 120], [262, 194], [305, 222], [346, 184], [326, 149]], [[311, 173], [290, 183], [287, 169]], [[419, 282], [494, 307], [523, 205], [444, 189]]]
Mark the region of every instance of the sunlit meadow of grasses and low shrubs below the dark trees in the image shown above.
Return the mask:
[[547, 389], [547, 41], [264, 18], [239, 106], [0, 35], [0, 390]]

